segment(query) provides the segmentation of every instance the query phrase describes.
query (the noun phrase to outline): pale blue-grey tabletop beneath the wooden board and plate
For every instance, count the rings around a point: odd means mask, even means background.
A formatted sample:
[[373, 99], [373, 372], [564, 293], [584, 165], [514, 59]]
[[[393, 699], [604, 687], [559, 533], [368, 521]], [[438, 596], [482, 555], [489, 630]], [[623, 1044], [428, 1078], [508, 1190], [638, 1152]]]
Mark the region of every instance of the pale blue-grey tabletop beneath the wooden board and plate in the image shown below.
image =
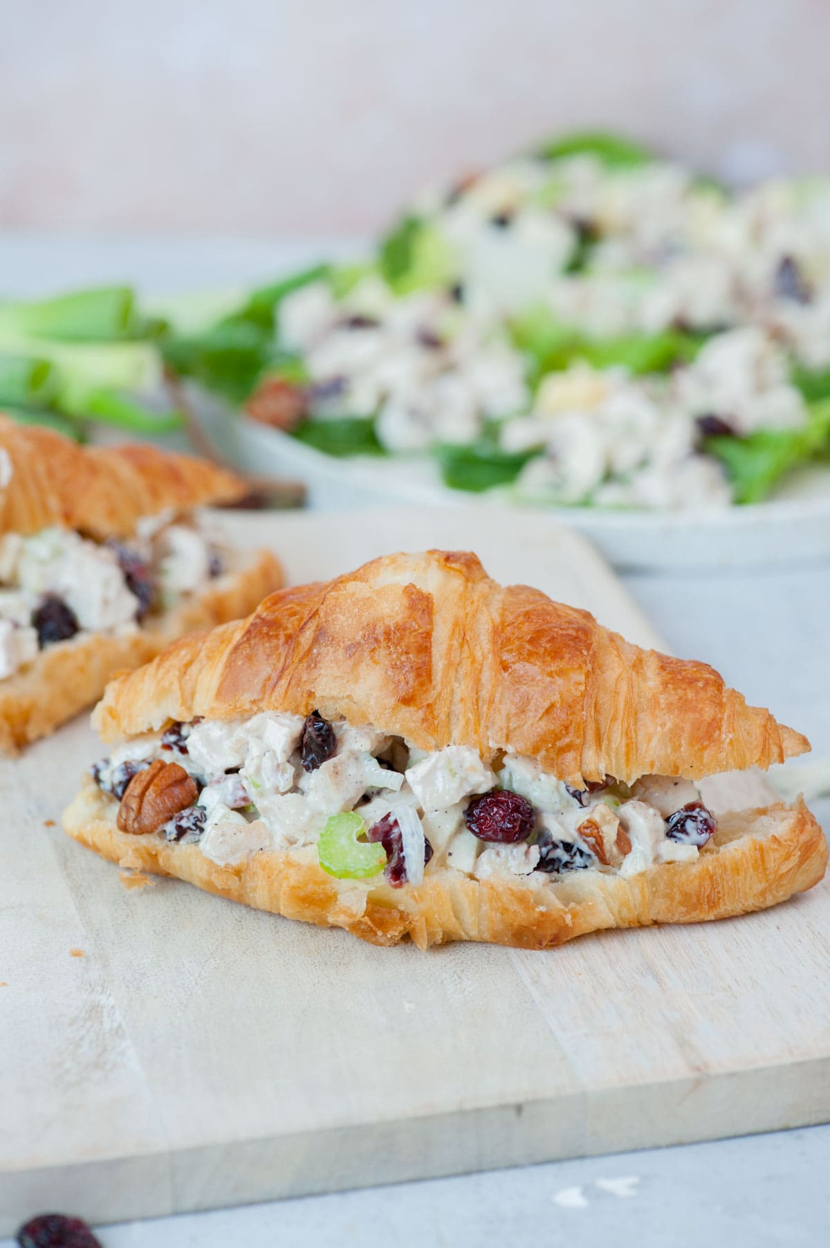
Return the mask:
[[[285, 256], [268, 243], [213, 246], [219, 263], [206, 285], [267, 278]], [[162, 273], [171, 290], [203, 271], [197, 261], [207, 248], [0, 238], [0, 273], [7, 292], [116, 276], [160, 288], [153, 277]], [[308, 245], [305, 255], [314, 250]], [[830, 565], [623, 580], [675, 654], [712, 663], [749, 701], [805, 731], [816, 756], [830, 758]], [[814, 809], [829, 829], [830, 801]], [[813, 1127], [130, 1223], [101, 1239], [105, 1248], [379, 1248], [390, 1239], [408, 1248], [593, 1248], [609, 1241], [623, 1248], [806, 1248], [826, 1242], [830, 1193], [821, 1176], [829, 1164], [830, 1126]], [[603, 1187], [627, 1178], [636, 1182]]]

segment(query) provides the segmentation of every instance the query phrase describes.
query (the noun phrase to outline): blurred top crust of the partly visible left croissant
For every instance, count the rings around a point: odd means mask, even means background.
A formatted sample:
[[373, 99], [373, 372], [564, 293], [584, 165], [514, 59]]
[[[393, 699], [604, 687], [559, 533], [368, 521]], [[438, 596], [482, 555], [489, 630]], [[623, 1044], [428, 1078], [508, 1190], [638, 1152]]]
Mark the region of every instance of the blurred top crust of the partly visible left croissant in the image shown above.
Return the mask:
[[57, 525], [126, 538], [143, 515], [232, 503], [244, 492], [238, 477], [204, 459], [146, 444], [79, 447], [0, 416], [0, 534]]

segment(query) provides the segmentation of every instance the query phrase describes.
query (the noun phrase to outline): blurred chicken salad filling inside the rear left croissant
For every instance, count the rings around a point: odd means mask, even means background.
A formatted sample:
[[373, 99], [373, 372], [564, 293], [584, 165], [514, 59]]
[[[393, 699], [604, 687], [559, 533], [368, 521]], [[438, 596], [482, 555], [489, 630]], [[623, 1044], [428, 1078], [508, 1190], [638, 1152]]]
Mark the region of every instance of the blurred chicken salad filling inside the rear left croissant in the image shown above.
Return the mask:
[[222, 575], [231, 558], [201, 513], [165, 512], [127, 540], [74, 529], [0, 537], [0, 679], [79, 634], [140, 628]]

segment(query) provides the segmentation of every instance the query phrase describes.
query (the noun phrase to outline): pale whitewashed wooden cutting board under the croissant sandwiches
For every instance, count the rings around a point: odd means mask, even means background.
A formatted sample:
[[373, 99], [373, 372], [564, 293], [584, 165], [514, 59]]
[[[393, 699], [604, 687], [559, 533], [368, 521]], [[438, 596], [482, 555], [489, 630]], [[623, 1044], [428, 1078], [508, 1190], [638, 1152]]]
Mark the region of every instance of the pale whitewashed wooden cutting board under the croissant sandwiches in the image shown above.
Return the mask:
[[[292, 579], [425, 545], [657, 644], [538, 517], [247, 517]], [[62, 835], [83, 720], [0, 770], [0, 1233], [236, 1204], [830, 1118], [830, 889], [548, 952], [363, 945]], [[751, 781], [750, 781], [751, 784]], [[763, 791], [761, 791], [763, 800]]]

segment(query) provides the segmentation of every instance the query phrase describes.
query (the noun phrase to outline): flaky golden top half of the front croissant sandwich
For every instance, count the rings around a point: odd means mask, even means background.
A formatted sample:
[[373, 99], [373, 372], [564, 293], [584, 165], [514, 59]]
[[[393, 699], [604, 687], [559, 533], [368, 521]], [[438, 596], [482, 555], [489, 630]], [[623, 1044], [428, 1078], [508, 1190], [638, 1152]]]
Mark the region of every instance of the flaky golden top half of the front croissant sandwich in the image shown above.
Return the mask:
[[474, 554], [440, 550], [272, 594], [113, 680], [93, 724], [112, 740], [171, 719], [314, 708], [425, 750], [526, 754], [573, 785], [697, 780], [810, 748], [707, 664], [642, 650], [587, 612], [498, 585]]

